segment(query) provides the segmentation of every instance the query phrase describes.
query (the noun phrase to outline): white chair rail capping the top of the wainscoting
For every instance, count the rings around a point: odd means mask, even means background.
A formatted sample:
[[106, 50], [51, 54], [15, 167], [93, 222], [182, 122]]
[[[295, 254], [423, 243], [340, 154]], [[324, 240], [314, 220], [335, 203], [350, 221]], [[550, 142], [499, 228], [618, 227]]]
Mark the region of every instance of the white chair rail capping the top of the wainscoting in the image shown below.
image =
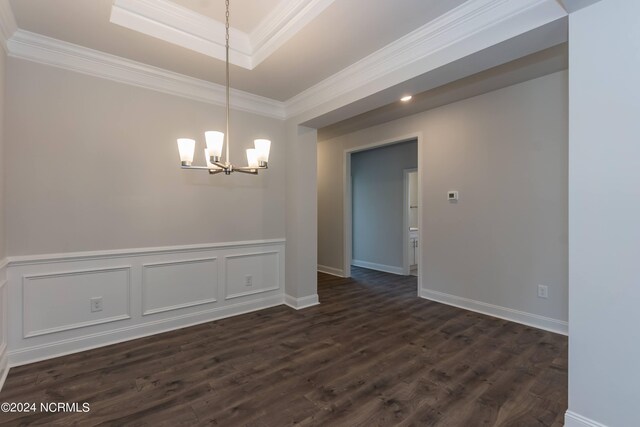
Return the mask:
[[89, 261], [98, 259], [129, 258], [163, 253], [201, 252], [211, 249], [234, 249], [245, 246], [270, 246], [285, 243], [282, 239], [246, 240], [240, 242], [206, 243], [200, 245], [160, 246], [156, 248], [116, 249], [107, 251], [67, 252], [60, 254], [28, 255], [8, 258], [9, 267], [18, 265], [50, 264], [52, 262]]

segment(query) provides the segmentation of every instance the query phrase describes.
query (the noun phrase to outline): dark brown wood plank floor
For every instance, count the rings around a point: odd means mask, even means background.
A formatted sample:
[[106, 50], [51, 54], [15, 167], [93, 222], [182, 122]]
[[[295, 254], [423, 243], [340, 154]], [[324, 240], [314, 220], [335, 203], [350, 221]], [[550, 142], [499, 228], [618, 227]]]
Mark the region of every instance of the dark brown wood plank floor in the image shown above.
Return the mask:
[[89, 413], [9, 425], [561, 426], [567, 339], [416, 297], [416, 278], [320, 274], [285, 306], [11, 369], [0, 402]]

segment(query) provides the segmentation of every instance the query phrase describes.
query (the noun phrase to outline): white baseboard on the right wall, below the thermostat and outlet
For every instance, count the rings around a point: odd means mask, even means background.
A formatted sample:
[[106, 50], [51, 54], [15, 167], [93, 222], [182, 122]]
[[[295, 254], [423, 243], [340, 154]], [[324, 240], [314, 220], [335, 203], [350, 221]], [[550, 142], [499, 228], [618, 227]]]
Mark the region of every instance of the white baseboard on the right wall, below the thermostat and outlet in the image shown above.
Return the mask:
[[420, 297], [431, 301], [464, 308], [465, 310], [476, 311], [478, 313], [487, 314], [489, 316], [498, 317], [500, 319], [516, 323], [522, 323], [523, 325], [533, 326], [534, 328], [544, 329], [556, 334], [568, 335], [569, 333], [569, 324], [563, 320], [552, 319], [550, 317], [488, 304], [482, 301], [462, 298], [456, 295], [445, 294], [443, 292], [433, 291], [430, 289], [420, 289], [419, 295]]

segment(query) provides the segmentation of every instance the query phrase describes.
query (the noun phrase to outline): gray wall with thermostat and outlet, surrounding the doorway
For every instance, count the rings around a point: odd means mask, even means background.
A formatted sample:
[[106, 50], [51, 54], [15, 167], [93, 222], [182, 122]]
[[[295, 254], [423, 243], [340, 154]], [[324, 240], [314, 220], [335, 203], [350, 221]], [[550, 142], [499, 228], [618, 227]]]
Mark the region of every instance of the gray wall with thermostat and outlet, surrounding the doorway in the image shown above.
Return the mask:
[[344, 150], [410, 134], [422, 136], [423, 288], [567, 320], [566, 71], [321, 141], [318, 264], [343, 268]]

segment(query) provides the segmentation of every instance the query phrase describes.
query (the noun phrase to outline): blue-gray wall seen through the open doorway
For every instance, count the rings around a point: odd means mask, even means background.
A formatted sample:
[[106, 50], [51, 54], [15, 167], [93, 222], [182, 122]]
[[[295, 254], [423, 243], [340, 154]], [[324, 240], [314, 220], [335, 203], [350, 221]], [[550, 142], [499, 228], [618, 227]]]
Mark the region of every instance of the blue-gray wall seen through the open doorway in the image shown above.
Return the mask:
[[402, 269], [404, 170], [417, 167], [417, 141], [351, 155], [354, 260]]

